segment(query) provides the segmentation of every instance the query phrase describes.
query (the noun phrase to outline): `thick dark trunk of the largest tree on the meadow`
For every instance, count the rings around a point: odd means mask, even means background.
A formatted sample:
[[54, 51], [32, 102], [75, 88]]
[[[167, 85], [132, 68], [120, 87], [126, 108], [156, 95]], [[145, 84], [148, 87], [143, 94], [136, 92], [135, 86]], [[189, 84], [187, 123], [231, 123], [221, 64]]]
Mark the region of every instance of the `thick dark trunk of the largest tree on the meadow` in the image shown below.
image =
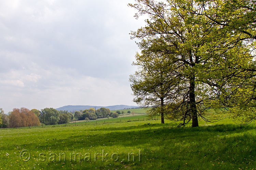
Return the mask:
[[197, 127], [198, 119], [197, 119], [197, 108], [196, 108], [196, 96], [195, 96], [195, 75], [192, 75], [190, 78], [190, 87], [189, 87], [189, 104], [190, 104], [190, 112], [192, 115], [192, 127]]

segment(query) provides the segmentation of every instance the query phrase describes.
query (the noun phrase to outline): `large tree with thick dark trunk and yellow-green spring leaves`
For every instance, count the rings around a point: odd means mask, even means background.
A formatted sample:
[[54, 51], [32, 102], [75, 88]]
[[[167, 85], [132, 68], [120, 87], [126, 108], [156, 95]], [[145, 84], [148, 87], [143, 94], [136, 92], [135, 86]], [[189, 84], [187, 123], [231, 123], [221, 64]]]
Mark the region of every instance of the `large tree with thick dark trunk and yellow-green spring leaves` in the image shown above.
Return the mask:
[[242, 41], [243, 35], [226, 31], [209, 17], [215, 1], [137, 2], [130, 4], [138, 10], [136, 17], [148, 17], [145, 27], [131, 33], [132, 38], [141, 40], [141, 55], [169, 56], [168, 62], [174, 68], [170, 79], [179, 80], [170, 86], [174, 86], [166, 111], [170, 119], [182, 119], [183, 125], [192, 120], [195, 127], [198, 116], [214, 120], [205, 116], [207, 107], [230, 107], [230, 103], [245, 96], [241, 94], [244, 85], [253, 84], [254, 56]]

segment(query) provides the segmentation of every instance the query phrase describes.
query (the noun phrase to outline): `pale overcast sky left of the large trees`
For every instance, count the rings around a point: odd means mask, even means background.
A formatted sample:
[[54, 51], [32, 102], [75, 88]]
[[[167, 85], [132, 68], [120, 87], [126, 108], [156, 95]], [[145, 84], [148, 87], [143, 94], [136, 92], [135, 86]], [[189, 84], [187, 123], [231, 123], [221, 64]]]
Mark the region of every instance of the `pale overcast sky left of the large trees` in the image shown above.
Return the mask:
[[133, 2], [0, 1], [0, 108], [136, 105]]

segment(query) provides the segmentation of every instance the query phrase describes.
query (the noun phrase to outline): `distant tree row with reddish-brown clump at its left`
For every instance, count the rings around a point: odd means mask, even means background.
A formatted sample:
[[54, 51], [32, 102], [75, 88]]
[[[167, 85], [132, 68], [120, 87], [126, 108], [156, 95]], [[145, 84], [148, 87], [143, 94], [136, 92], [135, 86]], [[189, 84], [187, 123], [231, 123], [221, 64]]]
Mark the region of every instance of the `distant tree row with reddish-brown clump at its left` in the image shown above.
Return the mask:
[[[131, 113], [127, 111], [127, 113]], [[101, 107], [95, 111], [94, 108], [81, 111], [68, 112], [57, 111], [54, 108], [32, 109], [14, 108], [12, 112], [4, 114], [0, 108], [0, 128], [20, 128], [27, 126], [54, 125], [69, 123], [72, 120], [95, 120], [96, 118], [118, 117], [124, 111], [110, 112], [110, 109]]]

